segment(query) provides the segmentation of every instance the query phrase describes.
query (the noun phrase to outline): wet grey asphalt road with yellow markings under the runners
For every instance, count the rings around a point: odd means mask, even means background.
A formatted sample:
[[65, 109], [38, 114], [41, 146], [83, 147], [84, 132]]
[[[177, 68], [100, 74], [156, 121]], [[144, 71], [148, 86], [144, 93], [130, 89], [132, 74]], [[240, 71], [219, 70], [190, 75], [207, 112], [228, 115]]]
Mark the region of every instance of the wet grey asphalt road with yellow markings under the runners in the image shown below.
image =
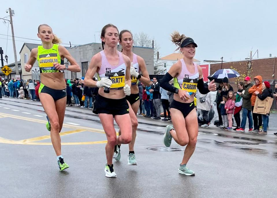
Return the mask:
[[123, 145], [118, 177], [106, 178], [103, 127], [78, 107], [66, 108], [62, 154], [70, 168], [60, 172], [45, 120], [39, 102], [0, 99], [0, 197], [276, 197], [277, 114], [266, 136], [200, 127], [187, 164], [195, 176], [178, 174], [184, 147], [162, 143], [170, 122], [138, 117], [138, 165], [127, 165]]

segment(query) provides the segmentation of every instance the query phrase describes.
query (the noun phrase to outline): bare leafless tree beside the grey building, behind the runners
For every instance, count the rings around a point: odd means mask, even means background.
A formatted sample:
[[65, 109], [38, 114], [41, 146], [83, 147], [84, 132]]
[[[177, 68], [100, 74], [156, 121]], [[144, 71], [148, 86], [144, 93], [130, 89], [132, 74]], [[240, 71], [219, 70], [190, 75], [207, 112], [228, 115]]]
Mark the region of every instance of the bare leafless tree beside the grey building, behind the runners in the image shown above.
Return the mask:
[[157, 52], [160, 49], [160, 46], [157, 44], [155, 39], [151, 39], [148, 34], [144, 32], [135, 33], [133, 35], [133, 44], [134, 46], [139, 47], [153, 47], [152, 42], [154, 41], [154, 74], [157, 74], [164, 70], [162, 63], [157, 59]]

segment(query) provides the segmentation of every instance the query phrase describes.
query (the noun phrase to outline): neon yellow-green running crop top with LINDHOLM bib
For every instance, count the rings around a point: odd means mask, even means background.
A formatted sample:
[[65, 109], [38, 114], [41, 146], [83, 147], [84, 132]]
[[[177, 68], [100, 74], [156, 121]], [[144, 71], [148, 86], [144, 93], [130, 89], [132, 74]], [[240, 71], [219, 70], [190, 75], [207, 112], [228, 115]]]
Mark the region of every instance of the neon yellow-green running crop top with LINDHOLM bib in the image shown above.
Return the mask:
[[64, 60], [61, 60], [58, 47], [59, 45], [57, 44], [53, 44], [51, 49], [44, 49], [42, 45], [38, 46], [37, 60], [40, 67], [40, 73], [62, 72], [53, 66], [56, 62], [64, 64]]

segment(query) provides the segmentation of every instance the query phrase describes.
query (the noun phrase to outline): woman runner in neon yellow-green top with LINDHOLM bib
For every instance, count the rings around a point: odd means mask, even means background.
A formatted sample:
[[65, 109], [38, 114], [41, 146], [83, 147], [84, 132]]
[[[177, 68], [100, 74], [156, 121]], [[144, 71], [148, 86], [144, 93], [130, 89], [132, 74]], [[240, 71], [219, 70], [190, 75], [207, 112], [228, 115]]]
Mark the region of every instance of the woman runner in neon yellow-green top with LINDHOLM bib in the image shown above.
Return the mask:
[[[59, 134], [62, 130], [66, 108], [66, 83], [63, 70], [80, 72], [80, 67], [65, 47], [57, 45], [61, 41], [53, 34], [49, 25], [42, 24], [38, 26], [38, 38], [41, 39], [42, 46], [31, 50], [30, 58], [25, 65], [25, 71], [31, 71], [32, 66], [38, 60], [41, 78], [40, 102], [47, 114], [51, 142], [57, 155], [59, 169], [62, 171], [69, 167], [62, 157]], [[64, 58], [71, 65], [64, 65]]]

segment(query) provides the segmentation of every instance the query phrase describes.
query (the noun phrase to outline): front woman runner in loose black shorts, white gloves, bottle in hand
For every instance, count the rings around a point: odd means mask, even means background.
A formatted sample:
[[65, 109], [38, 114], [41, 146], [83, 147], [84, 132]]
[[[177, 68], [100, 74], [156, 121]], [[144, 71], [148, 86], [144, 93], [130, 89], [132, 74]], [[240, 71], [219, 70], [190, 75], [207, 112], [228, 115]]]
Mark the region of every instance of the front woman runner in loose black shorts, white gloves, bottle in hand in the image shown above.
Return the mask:
[[[126, 95], [131, 94], [131, 62], [127, 56], [117, 51], [118, 36], [116, 26], [107, 24], [103, 27], [101, 31], [103, 51], [92, 57], [84, 80], [85, 86], [99, 87], [95, 110], [99, 114], [107, 136], [106, 177], [116, 177], [112, 162], [114, 146], [129, 144], [132, 140], [129, 106], [125, 99]], [[95, 73], [97, 73], [97, 82], [92, 79]], [[106, 77], [107, 75], [109, 78]], [[121, 131], [118, 138], [114, 129], [114, 119]]]

